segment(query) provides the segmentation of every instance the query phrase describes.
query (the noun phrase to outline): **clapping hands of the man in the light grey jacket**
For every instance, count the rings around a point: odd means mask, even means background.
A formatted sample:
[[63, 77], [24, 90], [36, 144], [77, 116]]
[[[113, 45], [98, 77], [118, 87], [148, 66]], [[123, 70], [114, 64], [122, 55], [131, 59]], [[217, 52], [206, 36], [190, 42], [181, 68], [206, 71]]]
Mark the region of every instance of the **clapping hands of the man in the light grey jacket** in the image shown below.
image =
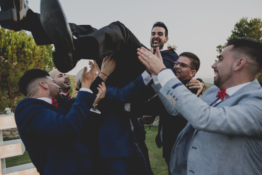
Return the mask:
[[158, 75], [158, 73], [163, 68], [166, 68], [166, 66], [163, 63], [163, 59], [160, 54], [160, 51], [159, 51], [159, 47], [157, 47], [155, 55], [152, 53], [152, 51], [149, 51], [145, 49], [144, 47], [141, 47], [141, 49], [137, 48], [137, 51], [138, 51], [137, 52], [138, 59], [155, 75]]

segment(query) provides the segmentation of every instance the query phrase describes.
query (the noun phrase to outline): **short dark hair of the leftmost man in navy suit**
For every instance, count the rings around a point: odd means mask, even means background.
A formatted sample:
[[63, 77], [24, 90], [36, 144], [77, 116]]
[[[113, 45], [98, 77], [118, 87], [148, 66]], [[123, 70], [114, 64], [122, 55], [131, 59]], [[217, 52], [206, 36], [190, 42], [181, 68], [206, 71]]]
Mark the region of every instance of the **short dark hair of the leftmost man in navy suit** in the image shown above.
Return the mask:
[[37, 78], [42, 78], [48, 76], [49, 74], [47, 71], [42, 70], [42, 69], [31, 69], [31, 70], [26, 70], [24, 75], [19, 79], [18, 81], [18, 86], [20, 92], [27, 97], [28, 94], [28, 85], [33, 82]]

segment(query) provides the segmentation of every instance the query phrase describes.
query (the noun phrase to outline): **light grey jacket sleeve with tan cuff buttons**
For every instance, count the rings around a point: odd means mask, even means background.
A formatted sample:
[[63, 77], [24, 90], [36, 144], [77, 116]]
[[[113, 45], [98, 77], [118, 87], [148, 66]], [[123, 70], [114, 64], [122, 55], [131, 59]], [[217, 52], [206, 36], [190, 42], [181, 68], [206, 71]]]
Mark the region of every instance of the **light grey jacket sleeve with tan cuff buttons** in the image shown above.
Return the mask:
[[[185, 86], [174, 86], [179, 82], [177, 78], [173, 78], [158, 92], [171, 115], [180, 113], [197, 130], [262, 138], [261, 87], [253, 93], [247, 91], [240, 98], [236, 97], [238, 100], [234, 100], [233, 105], [227, 105], [232, 102], [231, 99], [227, 99], [222, 101], [224, 106], [210, 107]], [[176, 103], [169, 99], [170, 95]], [[216, 98], [215, 95], [213, 98]]]

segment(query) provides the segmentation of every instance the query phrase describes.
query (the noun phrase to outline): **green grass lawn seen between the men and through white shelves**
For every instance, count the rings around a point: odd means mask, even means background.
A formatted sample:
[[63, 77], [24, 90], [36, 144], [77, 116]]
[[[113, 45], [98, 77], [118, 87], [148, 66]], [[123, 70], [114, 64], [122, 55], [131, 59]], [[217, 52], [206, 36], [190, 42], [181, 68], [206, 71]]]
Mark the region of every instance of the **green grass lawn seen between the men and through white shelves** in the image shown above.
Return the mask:
[[[155, 144], [155, 136], [157, 135], [157, 126], [151, 126], [149, 129], [148, 125], [145, 125], [146, 130], [146, 145], [148, 148], [148, 154], [150, 159], [150, 164], [152, 171], [155, 175], [168, 175], [167, 164], [162, 157], [162, 148], [157, 148]], [[16, 138], [3, 138], [3, 141], [12, 140], [12, 139], [20, 139]], [[31, 160], [26, 151], [24, 151], [23, 155], [6, 158], [6, 168], [13, 167], [17, 165], [23, 165], [31, 163]]]

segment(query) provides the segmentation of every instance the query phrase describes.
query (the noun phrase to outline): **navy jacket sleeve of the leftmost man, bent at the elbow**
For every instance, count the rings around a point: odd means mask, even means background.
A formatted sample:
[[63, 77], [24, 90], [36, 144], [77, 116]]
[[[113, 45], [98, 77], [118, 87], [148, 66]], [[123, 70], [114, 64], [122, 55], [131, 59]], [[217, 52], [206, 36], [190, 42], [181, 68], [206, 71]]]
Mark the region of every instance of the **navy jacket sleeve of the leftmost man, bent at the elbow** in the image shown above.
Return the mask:
[[95, 98], [92, 93], [79, 91], [69, 113], [43, 100], [27, 98], [15, 109], [17, 128], [23, 132], [39, 132], [43, 137], [75, 138], [79, 135]]

